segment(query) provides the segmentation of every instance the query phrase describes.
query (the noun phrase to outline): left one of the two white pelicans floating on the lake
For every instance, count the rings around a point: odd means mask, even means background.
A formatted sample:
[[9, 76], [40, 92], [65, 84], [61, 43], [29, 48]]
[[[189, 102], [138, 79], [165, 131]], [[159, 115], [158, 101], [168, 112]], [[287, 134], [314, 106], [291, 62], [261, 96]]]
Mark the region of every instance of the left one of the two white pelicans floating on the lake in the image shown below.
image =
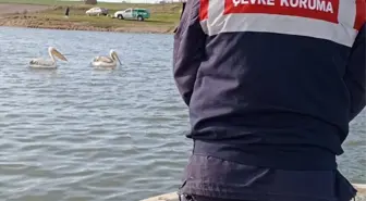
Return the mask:
[[51, 60], [45, 60], [42, 58], [33, 59], [29, 62], [29, 66], [35, 68], [57, 68], [54, 55], [60, 60], [68, 61], [68, 59], [53, 47], [48, 48], [48, 54]]

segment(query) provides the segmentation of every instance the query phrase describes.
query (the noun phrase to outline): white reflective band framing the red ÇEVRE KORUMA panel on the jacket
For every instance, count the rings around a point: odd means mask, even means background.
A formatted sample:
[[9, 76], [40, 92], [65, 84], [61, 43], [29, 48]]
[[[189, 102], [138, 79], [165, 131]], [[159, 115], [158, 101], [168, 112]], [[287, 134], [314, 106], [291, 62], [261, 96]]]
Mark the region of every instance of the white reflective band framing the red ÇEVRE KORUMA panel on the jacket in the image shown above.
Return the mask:
[[[339, 5], [337, 5], [338, 23], [325, 20], [317, 20], [314, 17], [312, 18], [312, 17], [285, 15], [283, 13], [273, 14], [273, 12], [272, 14], [266, 14], [264, 12], [261, 13], [236, 12], [224, 14], [225, 1], [228, 0], [209, 1], [208, 18], [202, 22], [202, 26], [204, 30], [207, 32], [207, 35], [213, 36], [220, 33], [236, 33], [236, 32], [263, 32], [263, 33], [288, 34], [288, 35], [327, 39], [340, 45], [352, 47], [355, 37], [357, 36], [358, 33], [358, 30], [354, 29], [356, 17], [356, 4], [354, 0], [339, 0]], [[251, 2], [251, 0], [235, 0], [235, 2], [237, 1], [240, 1], [241, 3]], [[257, 2], [265, 2], [265, 1], [268, 2], [274, 0], [263, 0]], [[304, 2], [304, 0], [300, 1]], [[254, 0], [252, 0], [252, 2], [254, 2]], [[289, 2], [291, 1], [289, 0]], [[337, 11], [337, 7], [334, 7], [334, 12]], [[329, 13], [328, 17], [330, 15]], [[333, 16], [334, 21], [337, 21], [335, 15]]]

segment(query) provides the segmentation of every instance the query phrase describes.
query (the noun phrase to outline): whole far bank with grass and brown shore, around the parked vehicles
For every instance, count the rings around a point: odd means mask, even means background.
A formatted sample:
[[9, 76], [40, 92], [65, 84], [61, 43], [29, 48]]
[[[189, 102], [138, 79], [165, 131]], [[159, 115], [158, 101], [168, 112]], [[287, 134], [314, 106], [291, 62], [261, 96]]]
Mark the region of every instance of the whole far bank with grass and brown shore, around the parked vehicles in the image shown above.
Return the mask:
[[[64, 16], [70, 8], [69, 17]], [[87, 16], [93, 7], [109, 10], [109, 15], [127, 8], [149, 9], [151, 16], [143, 22], [111, 16]], [[0, 0], [0, 26], [68, 30], [172, 34], [179, 24], [181, 3], [98, 3], [56, 0]]]

